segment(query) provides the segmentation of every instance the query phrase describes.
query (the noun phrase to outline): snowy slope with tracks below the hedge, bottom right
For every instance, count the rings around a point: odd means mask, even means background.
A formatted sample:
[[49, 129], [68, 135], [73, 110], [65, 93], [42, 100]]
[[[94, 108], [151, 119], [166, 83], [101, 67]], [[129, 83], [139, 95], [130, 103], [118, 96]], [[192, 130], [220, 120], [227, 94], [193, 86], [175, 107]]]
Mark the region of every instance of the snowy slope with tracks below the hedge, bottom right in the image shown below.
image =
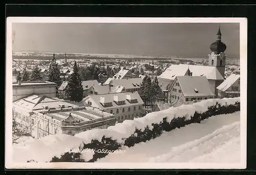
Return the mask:
[[210, 117], [97, 162], [239, 163], [240, 112]]

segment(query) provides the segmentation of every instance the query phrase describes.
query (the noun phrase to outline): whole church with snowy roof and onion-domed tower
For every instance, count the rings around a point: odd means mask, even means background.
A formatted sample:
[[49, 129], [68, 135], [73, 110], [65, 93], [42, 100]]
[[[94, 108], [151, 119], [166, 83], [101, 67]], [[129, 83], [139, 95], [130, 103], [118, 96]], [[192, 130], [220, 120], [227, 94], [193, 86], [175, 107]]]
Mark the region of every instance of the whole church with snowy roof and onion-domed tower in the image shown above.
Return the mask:
[[163, 91], [168, 91], [176, 76], [206, 76], [212, 92], [218, 97], [217, 87], [224, 81], [226, 45], [221, 41], [219, 28], [216, 41], [210, 45], [211, 53], [208, 55], [208, 66], [172, 64], [159, 76], [159, 84]]

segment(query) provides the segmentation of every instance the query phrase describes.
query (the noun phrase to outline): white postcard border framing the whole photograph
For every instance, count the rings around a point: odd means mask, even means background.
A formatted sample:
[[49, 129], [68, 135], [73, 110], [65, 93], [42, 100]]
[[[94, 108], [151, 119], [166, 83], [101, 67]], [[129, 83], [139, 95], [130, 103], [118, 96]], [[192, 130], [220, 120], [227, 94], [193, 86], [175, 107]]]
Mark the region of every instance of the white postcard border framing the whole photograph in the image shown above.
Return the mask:
[[[12, 23], [240, 23], [241, 162], [225, 163], [14, 163], [12, 118], [5, 120], [5, 167], [8, 169], [244, 169], [247, 131], [247, 18], [150, 17], [8, 17], [6, 23], [6, 116], [12, 116]], [[86, 167], [84, 165], [87, 165]]]

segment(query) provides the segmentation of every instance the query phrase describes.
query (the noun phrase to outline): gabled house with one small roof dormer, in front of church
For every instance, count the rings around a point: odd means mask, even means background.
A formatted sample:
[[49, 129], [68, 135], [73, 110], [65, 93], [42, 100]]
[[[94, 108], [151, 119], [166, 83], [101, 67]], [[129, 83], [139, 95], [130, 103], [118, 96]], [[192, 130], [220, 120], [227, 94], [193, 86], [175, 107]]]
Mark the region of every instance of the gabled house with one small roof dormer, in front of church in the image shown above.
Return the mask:
[[215, 98], [206, 76], [176, 76], [169, 88], [169, 100], [176, 102], [200, 101]]

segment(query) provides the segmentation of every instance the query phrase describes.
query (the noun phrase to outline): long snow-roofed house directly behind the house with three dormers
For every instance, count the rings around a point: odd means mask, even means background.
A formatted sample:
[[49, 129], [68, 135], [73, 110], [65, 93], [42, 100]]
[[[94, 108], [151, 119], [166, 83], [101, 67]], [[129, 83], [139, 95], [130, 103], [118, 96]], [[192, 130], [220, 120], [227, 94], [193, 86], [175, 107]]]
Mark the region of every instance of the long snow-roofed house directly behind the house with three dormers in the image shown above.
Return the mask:
[[140, 84], [142, 78], [125, 78], [125, 79], [112, 79], [109, 78], [105, 81], [106, 85], [123, 86], [127, 92], [138, 92], [141, 94]]

